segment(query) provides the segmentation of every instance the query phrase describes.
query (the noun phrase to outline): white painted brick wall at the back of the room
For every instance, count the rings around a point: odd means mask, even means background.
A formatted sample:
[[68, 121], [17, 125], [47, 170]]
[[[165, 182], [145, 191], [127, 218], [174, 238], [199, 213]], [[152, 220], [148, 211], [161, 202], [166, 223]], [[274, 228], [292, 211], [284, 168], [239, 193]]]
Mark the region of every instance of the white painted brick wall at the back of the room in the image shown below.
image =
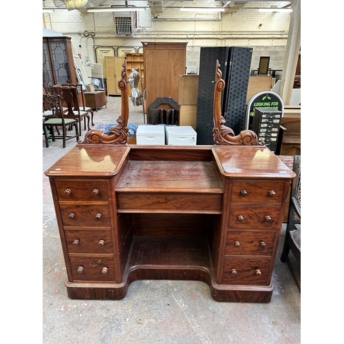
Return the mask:
[[[164, 1], [168, 6], [178, 6], [175, 1]], [[290, 1], [279, 1], [283, 7]], [[114, 1], [107, 0], [104, 6], [111, 6]], [[129, 5], [147, 7], [147, 1], [128, 1]], [[178, 3], [182, 6], [217, 7], [218, 1], [197, 0]], [[114, 17], [111, 12], [87, 13], [78, 10], [56, 10], [51, 14], [43, 14], [43, 27], [62, 32], [72, 37], [77, 53], [91, 76], [91, 66], [86, 65], [88, 56], [91, 63], [96, 63], [95, 48], [97, 46], [141, 47], [141, 41], [180, 41], [188, 42], [186, 47], [186, 66], [188, 70], [199, 67], [200, 47], [202, 46], [245, 46], [252, 47], [251, 69], [257, 69], [260, 56], [270, 56], [272, 69], [282, 69], [283, 56], [288, 38], [290, 14], [258, 12], [247, 8], [268, 7], [266, 2], [248, 2], [233, 14], [222, 14], [221, 21], [152, 21], [151, 10], [138, 12], [138, 32], [133, 37], [116, 37]], [[275, 5], [276, 1], [272, 1]], [[46, 0], [45, 6], [54, 7], [54, 1]], [[163, 5], [164, 6], [164, 5]], [[167, 6], [167, 5], [165, 5]], [[166, 8], [159, 19], [171, 17], [200, 18], [214, 17], [218, 14], [193, 14], [177, 9]], [[261, 26], [259, 26], [261, 24]], [[95, 36], [85, 36], [87, 32], [95, 32]]]

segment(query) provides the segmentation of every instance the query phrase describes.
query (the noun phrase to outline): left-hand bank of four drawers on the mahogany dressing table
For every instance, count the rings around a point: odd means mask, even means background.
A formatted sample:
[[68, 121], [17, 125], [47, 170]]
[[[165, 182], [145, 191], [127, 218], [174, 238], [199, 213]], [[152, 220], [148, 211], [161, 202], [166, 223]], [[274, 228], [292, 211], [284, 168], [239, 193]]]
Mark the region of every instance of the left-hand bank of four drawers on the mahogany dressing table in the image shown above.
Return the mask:
[[55, 180], [69, 281], [117, 281], [108, 182]]

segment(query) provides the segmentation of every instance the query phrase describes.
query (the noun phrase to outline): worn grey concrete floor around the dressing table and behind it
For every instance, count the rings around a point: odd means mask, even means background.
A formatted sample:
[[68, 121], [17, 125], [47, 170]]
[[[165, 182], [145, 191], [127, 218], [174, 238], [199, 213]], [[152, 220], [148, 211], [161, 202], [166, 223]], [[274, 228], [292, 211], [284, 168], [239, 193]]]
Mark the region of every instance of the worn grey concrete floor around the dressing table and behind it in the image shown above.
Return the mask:
[[[129, 98], [129, 122], [143, 124], [142, 107]], [[94, 127], [116, 123], [120, 97], [94, 111]], [[83, 138], [85, 130], [82, 132]], [[76, 144], [43, 147], [43, 172]], [[288, 265], [279, 260], [270, 303], [219, 303], [200, 281], [135, 281], [119, 301], [72, 300], [65, 288], [65, 262], [50, 185], [43, 173], [43, 343], [301, 343], [301, 295]], [[300, 267], [299, 267], [300, 268]]]

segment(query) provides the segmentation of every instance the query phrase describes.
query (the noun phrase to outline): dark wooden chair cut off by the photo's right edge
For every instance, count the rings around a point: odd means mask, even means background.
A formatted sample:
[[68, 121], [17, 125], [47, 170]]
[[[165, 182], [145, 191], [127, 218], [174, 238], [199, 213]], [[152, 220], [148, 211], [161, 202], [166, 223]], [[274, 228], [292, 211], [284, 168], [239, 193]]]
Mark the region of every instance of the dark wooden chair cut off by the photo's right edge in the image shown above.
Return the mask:
[[297, 176], [292, 180], [286, 238], [284, 239], [281, 261], [287, 261], [292, 276], [297, 283], [297, 288], [301, 291], [301, 281], [288, 257], [291, 250], [297, 261], [301, 261], [301, 155], [294, 156], [292, 169]]

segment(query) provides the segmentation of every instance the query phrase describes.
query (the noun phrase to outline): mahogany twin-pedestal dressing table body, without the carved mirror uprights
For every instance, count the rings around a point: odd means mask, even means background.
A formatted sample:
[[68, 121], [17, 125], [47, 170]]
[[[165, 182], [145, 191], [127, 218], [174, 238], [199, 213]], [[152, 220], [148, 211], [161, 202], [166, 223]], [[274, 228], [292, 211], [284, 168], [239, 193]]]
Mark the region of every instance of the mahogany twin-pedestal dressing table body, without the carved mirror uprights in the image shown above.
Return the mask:
[[180, 279], [216, 301], [270, 301], [294, 173], [266, 147], [80, 144], [45, 175], [71, 299]]

